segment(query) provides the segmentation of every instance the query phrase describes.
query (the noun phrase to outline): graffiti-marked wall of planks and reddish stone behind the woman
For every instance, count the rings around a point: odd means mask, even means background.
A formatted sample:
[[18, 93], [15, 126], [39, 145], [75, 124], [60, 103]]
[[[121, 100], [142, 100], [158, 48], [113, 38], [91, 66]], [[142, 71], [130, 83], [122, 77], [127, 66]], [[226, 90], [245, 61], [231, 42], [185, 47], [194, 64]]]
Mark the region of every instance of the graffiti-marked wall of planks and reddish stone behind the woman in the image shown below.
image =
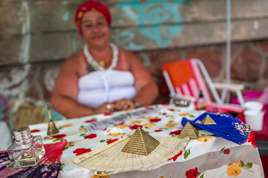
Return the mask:
[[[49, 101], [63, 62], [83, 46], [73, 22], [82, 2], [1, 0], [0, 118], [12, 128], [20, 109]], [[113, 17], [111, 41], [134, 51], [159, 85], [164, 63], [187, 58], [203, 61], [214, 82], [225, 81], [226, 0], [103, 2]], [[268, 1], [232, 0], [231, 20], [231, 82], [262, 90], [268, 85]], [[161, 93], [155, 103], [168, 100]], [[40, 115], [43, 121], [46, 112]]]

